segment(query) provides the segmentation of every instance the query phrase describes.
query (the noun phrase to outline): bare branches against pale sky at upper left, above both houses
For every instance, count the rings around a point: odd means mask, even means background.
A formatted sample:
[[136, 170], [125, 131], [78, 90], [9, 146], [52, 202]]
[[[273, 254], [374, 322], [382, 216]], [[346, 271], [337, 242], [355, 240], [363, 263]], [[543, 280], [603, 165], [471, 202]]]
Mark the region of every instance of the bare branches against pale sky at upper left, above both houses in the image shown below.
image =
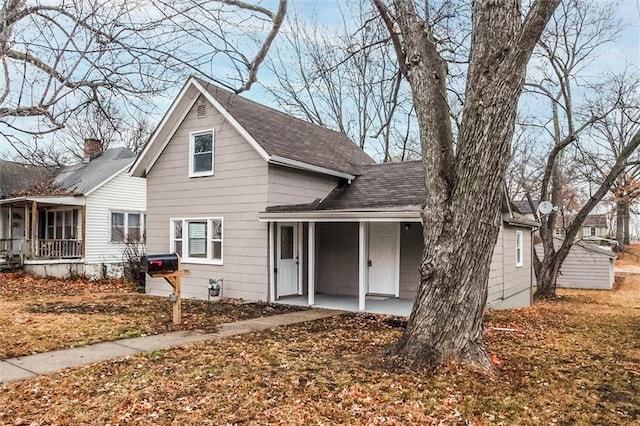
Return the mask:
[[[51, 133], [87, 109], [102, 115], [113, 105], [149, 111], [152, 96], [188, 74], [247, 90], [286, 7], [286, 0], [276, 11], [235, 0], [4, 0], [0, 137], [18, 143]], [[246, 54], [251, 50], [254, 56]], [[223, 64], [234, 73], [221, 75]]]

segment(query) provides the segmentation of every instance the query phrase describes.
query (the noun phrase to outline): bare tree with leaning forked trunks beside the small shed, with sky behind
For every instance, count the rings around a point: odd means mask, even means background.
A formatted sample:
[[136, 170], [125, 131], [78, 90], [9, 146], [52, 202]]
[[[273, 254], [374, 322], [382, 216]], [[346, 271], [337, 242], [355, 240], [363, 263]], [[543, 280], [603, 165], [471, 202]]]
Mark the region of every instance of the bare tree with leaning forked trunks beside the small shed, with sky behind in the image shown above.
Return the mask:
[[[557, 207], [550, 214], [540, 217], [539, 228], [542, 240], [542, 255], [534, 252], [534, 270], [537, 280], [536, 297], [554, 297], [556, 279], [560, 267], [573, 245], [582, 223], [587, 215], [602, 200], [604, 195], [625, 168], [627, 159], [632, 155], [638, 142], [628, 139], [624, 149], [616, 152], [606, 163], [599, 164], [596, 183], [580, 208], [569, 197], [576, 192], [577, 177], [585, 171], [584, 157], [599, 158], [601, 152], [592, 138], [587, 138], [590, 129], [604, 120], [619, 103], [619, 97], [607, 97], [595, 104], [587, 102], [589, 94], [598, 87], [606, 88], [600, 79], [588, 79], [583, 71], [607, 43], [615, 39], [622, 28], [614, 18], [615, 5], [594, 1], [570, 0], [563, 2], [543, 33], [538, 48], [534, 52], [533, 67], [526, 88], [527, 96], [541, 99], [548, 105], [548, 116], [537, 112], [538, 120], [533, 124], [541, 129], [535, 139], [536, 144], [550, 140], [547, 149], [534, 148], [541, 153], [536, 163], [538, 172], [535, 183], [528, 189], [535, 189], [539, 200], [551, 201]], [[586, 92], [586, 93], [585, 93]], [[584, 136], [584, 137], [582, 137]], [[542, 167], [540, 167], [542, 165]], [[588, 168], [589, 169], [589, 168]], [[597, 181], [597, 182], [596, 182]], [[573, 182], [573, 185], [570, 185]], [[532, 210], [535, 211], [532, 205]], [[567, 218], [567, 213], [570, 218]], [[565, 230], [560, 246], [554, 241], [556, 228]]]

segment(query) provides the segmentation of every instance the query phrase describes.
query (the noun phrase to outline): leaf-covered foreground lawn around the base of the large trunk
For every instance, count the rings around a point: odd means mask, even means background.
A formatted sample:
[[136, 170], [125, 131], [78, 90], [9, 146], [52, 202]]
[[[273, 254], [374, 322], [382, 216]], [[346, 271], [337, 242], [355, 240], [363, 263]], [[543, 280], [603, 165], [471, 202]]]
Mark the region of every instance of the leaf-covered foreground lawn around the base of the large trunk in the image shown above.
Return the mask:
[[6, 384], [0, 423], [638, 424], [640, 277], [559, 293], [488, 313], [496, 378], [394, 367], [402, 321], [350, 314]]

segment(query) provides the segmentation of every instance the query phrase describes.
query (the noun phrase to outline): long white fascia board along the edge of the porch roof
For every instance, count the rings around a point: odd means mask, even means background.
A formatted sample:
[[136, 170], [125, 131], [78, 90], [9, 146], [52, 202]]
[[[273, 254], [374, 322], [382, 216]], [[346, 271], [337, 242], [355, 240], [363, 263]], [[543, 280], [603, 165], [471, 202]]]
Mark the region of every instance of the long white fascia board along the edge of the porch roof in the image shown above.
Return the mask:
[[420, 222], [420, 207], [258, 213], [260, 222]]

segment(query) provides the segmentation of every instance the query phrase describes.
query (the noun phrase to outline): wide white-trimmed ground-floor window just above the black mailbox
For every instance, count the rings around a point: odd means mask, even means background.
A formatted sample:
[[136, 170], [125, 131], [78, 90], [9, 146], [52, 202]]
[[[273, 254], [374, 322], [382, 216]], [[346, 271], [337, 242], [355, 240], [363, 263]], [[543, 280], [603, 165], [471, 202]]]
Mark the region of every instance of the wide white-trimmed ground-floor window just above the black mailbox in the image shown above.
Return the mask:
[[171, 219], [170, 250], [186, 263], [222, 265], [221, 217]]

